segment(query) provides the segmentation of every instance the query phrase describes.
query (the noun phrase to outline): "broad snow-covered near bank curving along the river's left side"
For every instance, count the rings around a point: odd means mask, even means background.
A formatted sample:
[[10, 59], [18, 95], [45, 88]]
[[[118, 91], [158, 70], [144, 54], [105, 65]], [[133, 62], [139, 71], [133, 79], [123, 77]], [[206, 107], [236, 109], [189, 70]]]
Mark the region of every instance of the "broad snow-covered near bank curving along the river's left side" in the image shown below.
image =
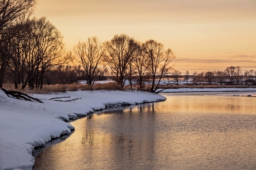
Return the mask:
[[[0, 90], [0, 169], [31, 169], [34, 147], [43, 146], [74, 127], [67, 121], [90, 112], [124, 104], [164, 101], [165, 97], [139, 91], [75, 91], [59, 94], [32, 95], [43, 104], [9, 98]], [[69, 96], [69, 98], [55, 97]], [[56, 99], [56, 100], [57, 100]], [[63, 121], [63, 120], [66, 120]]]

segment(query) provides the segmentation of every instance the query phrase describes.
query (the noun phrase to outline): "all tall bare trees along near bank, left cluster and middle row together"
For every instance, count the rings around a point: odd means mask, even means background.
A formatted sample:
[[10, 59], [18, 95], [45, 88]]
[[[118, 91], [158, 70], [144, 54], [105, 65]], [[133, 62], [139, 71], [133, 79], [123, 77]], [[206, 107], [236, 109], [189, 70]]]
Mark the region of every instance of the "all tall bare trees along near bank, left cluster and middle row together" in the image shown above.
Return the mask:
[[66, 52], [60, 31], [50, 21], [31, 18], [35, 1], [0, 1], [0, 88], [4, 77], [8, 77], [15, 88], [28, 85], [30, 90], [40, 89], [45, 77], [50, 82], [59, 66], [75, 56], [83, 66], [88, 85], [108, 73], [122, 89], [127, 87], [125, 82], [132, 85], [137, 77], [141, 90], [143, 81], [150, 79], [150, 91], [155, 92], [165, 74], [170, 73], [170, 63], [175, 58], [173, 51], [165, 50], [152, 39], [142, 43], [120, 34], [101, 43], [93, 36], [78, 42], [72, 52]]

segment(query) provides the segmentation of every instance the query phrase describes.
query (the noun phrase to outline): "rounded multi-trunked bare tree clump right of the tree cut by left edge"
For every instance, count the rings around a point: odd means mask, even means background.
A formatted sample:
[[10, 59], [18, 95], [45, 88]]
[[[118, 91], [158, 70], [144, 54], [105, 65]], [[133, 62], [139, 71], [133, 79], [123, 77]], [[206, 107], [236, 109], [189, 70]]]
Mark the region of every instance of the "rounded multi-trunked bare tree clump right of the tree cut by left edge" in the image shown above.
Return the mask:
[[46, 18], [34, 18], [28, 20], [27, 24], [28, 28], [18, 39], [15, 61], [21, 64], [22, 88], [27, 84], [29, 89], [42, 88], [45, 72], [72, 58], [69, 53], [64, 55], [61, 33]]

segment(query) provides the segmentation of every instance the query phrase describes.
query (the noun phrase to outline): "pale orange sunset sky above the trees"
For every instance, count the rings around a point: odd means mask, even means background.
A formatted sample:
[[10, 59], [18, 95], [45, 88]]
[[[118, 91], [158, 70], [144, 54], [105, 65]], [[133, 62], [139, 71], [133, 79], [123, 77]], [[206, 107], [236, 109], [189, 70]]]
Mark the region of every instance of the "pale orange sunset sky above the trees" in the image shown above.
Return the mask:
[[90, 36], [127, 34], [172, 49], [182, 73], [256, 71], [256, 0], [38, 0], [34, 15], [61, 31], [67, 50]]

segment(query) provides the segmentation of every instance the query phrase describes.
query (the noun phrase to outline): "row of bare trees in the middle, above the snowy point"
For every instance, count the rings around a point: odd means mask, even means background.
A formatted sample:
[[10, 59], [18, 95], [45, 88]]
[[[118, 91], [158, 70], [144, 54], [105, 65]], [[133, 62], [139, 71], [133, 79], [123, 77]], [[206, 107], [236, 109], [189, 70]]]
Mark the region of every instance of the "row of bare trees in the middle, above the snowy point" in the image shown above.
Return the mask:
[[141, 43], [126, 34], [115, 35], [104, 43], [91, 37], [86, 42], [79, 42], [73, 51], [86, 71], [89, 85], [93, 84], [102, 66], [110, 69], [110, 74], [123, 89], [125, 82], [132, 85], [132, 77], [136, 76], [141, 90], [143, 80], [149, 77], [151, 92], [155, 92], [165, 74], [170, 73], [170, 63], [175, 58], [173, 51], [165, 50], [159, 42], [151, 39]]

